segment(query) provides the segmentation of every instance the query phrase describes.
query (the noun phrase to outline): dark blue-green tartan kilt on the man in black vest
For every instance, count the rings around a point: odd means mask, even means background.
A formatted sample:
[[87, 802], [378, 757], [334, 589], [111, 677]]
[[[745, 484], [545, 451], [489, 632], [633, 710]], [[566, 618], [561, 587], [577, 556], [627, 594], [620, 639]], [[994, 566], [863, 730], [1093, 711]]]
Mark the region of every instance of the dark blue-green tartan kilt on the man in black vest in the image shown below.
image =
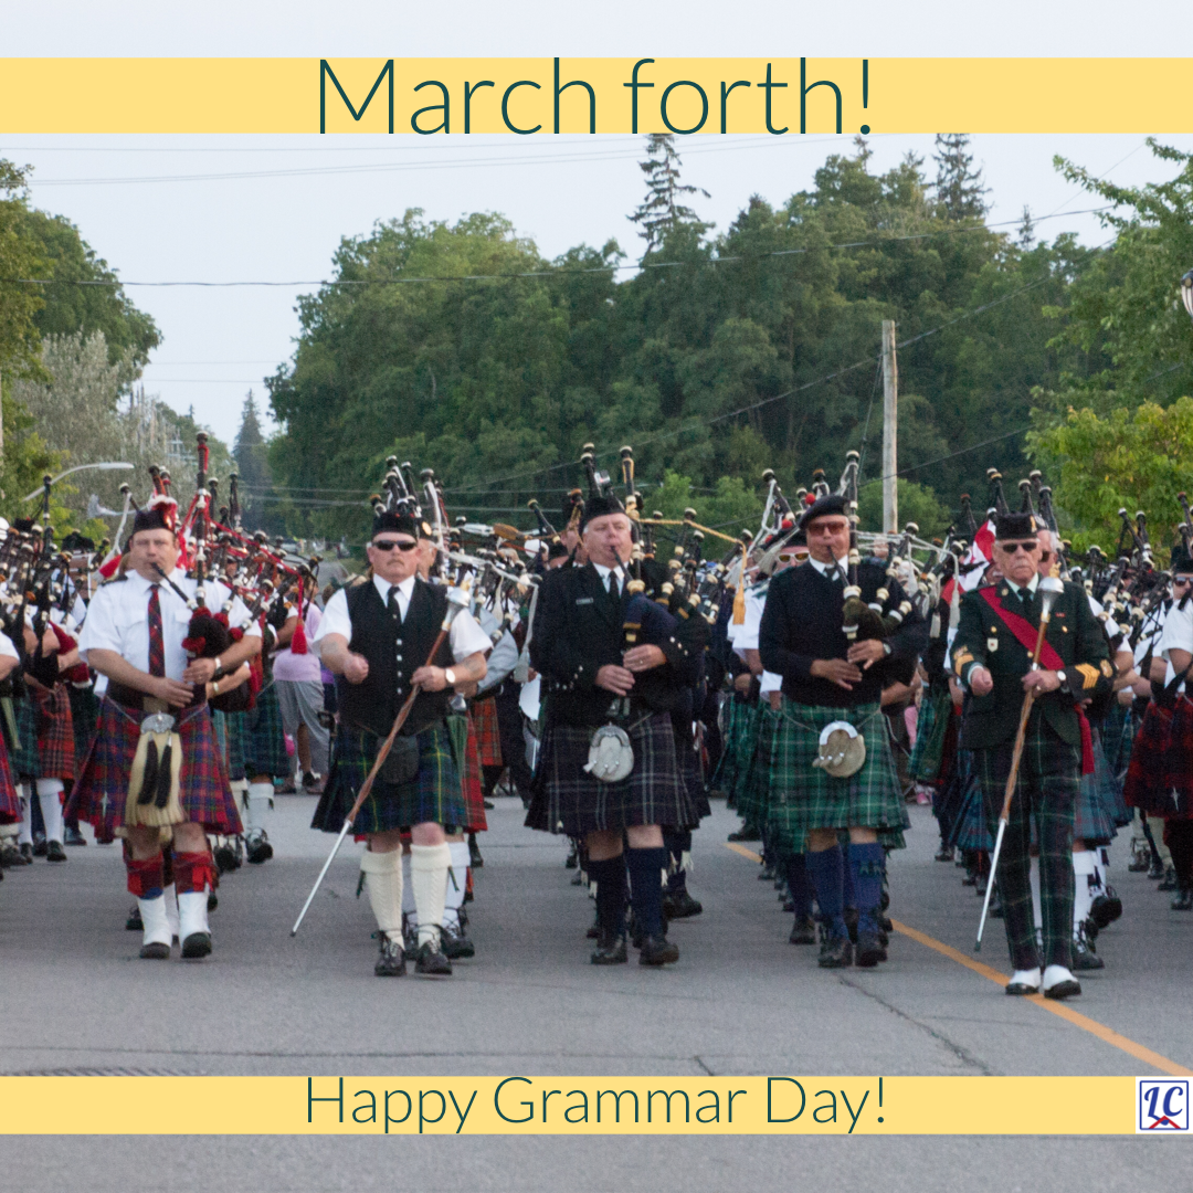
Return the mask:
[[[332, 744], [327, 786], [315, 809], [311, 828], [340, 832], [382, 741], [369, 729], [340, 723]], [[456, 828], [465, 822], [468, 810], [446, 725], [424, 729], [418, 742], [418, 775], [409, 783], [394, 784], [385, 783], [378, 774], [352, 826], [356, 835], [427, 823]]]

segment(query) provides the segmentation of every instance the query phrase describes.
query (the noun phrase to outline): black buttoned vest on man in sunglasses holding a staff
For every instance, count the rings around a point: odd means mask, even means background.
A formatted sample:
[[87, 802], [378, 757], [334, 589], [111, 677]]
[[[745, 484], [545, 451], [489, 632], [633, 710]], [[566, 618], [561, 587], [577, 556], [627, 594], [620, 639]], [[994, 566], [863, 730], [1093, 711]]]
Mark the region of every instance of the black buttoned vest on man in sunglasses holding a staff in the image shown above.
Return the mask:
[[[371, 729], [385, 737], [410, 694], [410, 676], [426, 663], [435, 643], [447, 612], [447, 594], [443, 588], [415, 580], [404, 622], [389, 612], [372, 580], [350, 588], [347, 599], [352, 620], [348, 649], [364, 655], [369, 675], [363, 684], [350, 684], [342, 675], [335, 678], [340, 716], [346, 724]], [[451, 663], [451, 645], [445, 638], [432, 665], [450, 667]], [[403, 736], [441, 723], [451, 698], [451, 687], [441, 692], [420, 692], [402, 727]]]

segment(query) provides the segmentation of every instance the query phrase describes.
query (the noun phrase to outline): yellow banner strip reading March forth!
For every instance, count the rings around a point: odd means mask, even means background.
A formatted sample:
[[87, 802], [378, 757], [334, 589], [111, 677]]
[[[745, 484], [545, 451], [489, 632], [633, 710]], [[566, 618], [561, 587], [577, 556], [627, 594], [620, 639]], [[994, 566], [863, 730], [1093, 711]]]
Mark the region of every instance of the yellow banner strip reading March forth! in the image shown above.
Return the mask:
[[52, 132], [1188, 131], [1189, 58], [0, 58]]

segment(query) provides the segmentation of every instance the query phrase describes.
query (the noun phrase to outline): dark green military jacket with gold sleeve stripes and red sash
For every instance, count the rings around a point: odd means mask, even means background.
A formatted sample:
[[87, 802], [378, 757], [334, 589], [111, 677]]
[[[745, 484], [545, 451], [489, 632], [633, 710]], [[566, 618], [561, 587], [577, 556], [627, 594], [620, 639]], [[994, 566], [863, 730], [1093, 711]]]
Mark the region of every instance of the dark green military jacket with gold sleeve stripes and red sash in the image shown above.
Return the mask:
[[[1034, 630], [1039, 630], [1039, 589], [1030, 612], [1005, 580], [999, 581], [996, 591], [1005, 610], [1026, 618]], [[1046, 641], [1064, 667], [1058, 668], [1061, 690], [1038, 697], [1037, 704], [1062, 741], [1080, 746], [1077, 701], [1108, 692], [1114, 682], [1106, 635], [1089, 608], [1083, 588], [1065, 583], [1052, 607]], [[1031, 668], [1031, 651], [987, 604], [981, 589], [962, 598], [960, 623], [951, 657], [954, 673], [966, 686], [975, 667], [985, 667], [994, 676], [994, 690], [988, 696], [970, 696], [962, 724], [962, 749], [991, 749], [1014, 741], [1024, 706], [1022, 678]], [[1040, 666], [1051, 669], [1043, 660]]]

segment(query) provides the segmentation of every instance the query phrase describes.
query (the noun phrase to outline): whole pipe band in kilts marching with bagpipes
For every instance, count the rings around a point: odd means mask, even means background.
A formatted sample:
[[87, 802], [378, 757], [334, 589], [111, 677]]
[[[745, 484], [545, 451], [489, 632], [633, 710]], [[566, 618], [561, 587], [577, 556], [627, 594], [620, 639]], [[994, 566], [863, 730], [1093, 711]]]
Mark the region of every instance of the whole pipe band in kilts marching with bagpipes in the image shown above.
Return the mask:
[[733, 536], [648, 515], [628, 449], [620, 494], [582, 463], [587, 494], [558, 526], [531, 502], [527, 532], [450, 526], [433, 474], [390, 460], [364, 567], [330, 585], [241, 528], [235, 487], [218, 505], [202, 439], [186, 509], [154, 470], [106, 558], [2, 527], [0, 876], [67, 861], [89, 824], [120, 842], [141, 957], [200, 959], [221, 877], [271, 861], [274, 799], [302, 791], [313, 828], [363, 843], [375, 973], [445, 977], [475, 956], [500, 790], [568, 839], [592, 963], [662, 968], [724, 797], [791, 944], [874, 968], [919, 802], [1003, 921], [1008, 994], [1070, 997], [1104, 966], [1119, 832], [1193, 910], [1188, 520], [1167, 569], [1125, 517], [1114, 560], [1078, 558], [1039, 476], [1010, 509], [991, 470], [981, 524], [964, 499], [942, 540], [864, 532], [851, 453], [792, 503], [768, 475], [761, 527]]

